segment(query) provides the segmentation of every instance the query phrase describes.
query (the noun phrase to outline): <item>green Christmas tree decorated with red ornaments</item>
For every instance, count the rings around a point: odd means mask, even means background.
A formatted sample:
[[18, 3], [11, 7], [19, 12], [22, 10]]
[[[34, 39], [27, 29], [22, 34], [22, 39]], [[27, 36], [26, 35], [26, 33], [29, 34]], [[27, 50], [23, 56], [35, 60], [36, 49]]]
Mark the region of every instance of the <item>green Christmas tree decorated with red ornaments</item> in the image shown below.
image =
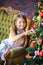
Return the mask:
[[38, 11], [34, 12], [32, 20], [35, 33], [30, 33], [26, 51], [27, 65], [43, 65], [43, 0], [39, 0]]

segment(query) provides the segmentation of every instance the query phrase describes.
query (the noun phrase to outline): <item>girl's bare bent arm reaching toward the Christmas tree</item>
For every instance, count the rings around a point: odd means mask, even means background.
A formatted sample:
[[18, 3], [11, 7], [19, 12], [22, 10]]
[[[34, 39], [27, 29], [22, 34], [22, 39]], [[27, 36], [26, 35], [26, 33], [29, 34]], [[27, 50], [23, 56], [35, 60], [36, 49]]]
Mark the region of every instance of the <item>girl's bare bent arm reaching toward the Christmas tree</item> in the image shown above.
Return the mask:
[[31, 31], [32, 31], [32, 29], [29, 30], [29, 31], [26, 31], [26, 32], [23, 32], [23, 33], [21, 33], [21, 34], [16, 35], [16, 34], [15, 34], [15, 31], [13, 30], [13, 28], [12, 28], [12, 27], [10, 28], [10, 34], [11, 34], [11, 37], [12, 37], [12, 39], [13, 39], [14, 42], [15, 42], [16, 40], [20, 39], [21, 37], [25, 36], [25, 35], [29, 35], [29, 33], [30, 33]]

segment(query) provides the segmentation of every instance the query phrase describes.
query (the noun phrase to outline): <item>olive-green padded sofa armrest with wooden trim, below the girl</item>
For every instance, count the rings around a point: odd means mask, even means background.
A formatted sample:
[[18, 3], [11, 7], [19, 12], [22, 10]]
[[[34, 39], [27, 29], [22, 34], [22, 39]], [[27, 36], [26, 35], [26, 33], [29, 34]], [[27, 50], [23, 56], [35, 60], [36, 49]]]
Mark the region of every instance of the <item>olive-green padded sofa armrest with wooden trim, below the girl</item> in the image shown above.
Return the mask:
[[[27, 54], [27, 52], [26, 52], [25, 48], [22, 46], [12, 48], [6, 54], [6, 57], [5, 57], [6, 60], [5, 60], [4, 65], [9, 64], [10, 61], [12, 61], [14, 63], [18, 63], [18, 61], [21, 62], [22, 61], [21, 58], [23, 58], [23, 56], [25, 56], [26, 54]], [[12, 64], [12, 62], [10, 62], [10, 63]]]

